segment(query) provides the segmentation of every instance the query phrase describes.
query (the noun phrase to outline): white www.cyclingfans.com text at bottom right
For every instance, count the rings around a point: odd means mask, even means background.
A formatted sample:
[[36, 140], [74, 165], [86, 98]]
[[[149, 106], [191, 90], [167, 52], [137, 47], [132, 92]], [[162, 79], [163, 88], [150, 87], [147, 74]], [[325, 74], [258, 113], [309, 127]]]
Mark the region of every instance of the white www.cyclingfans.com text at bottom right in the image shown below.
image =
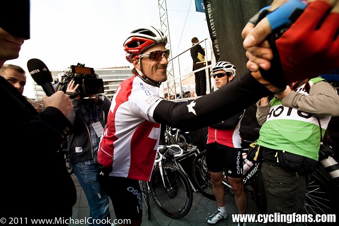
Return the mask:
[[232, 214], [233, 222], [285, 222], [285, 223], [318, 223], [336, 222], [336, 214]]

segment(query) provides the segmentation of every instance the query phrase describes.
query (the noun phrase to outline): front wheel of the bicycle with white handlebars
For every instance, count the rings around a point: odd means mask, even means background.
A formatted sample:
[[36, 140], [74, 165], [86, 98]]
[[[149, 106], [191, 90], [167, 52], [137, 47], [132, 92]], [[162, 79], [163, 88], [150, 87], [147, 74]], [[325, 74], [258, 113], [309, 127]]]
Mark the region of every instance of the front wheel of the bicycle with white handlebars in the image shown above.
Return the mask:
[[155, 204], [170, 218], [184, 217], [191, 209], [193, 193], [186, 175], [176, 166], [162, 165], [154, 169], [150, 188]]

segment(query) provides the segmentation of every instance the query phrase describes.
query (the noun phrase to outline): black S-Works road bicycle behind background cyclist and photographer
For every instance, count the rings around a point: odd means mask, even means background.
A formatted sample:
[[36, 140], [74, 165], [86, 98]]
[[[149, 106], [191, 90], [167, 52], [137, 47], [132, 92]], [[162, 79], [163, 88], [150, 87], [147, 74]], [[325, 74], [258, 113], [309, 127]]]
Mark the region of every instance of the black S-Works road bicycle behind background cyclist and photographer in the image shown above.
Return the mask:
[[[247, 162], [246, 155], [248, 148], [243, 149], [243, 163], [244, 165]], [[334, 153], [323, 153], [320, 151], [319, 163], [315, 172], [311, 175], [309, 180], [309, 185], [306, 190], [305, 196], [305, 205], [304, 205], [304, 214], [339, 214], [338, 207], [338, 184], [335, 183], [330, 173], [334, 171], [333, 167], [325, 167], [322, 162], [326, 158], [333, 158]], [[335, 160], [335, 163], [338, 167], [338, 161]], [[333, 164], [332, 164], [333, 166]], [[244, 189], [247, 194], [250, 195], [252, 200], [256, 203], [260, 212], [264, 212], [264, 205], [260, 202], [259, 192], [258, 192], [258, 172], [260, 168], [260, 163], [253, 164], [253, 166], [245, 172], [243, 176]], [[338, 168], [336, 169], [338, 170]], [[206, 165], [206, 151], [200, 152], [192, 166], [192, 176], [194, 184], [201, 194], [209, 199], [215, 200], [211, 174], [207, 169]], [[234, 195], [231, 185], [227, 180], [227, 176], [223, 177], [223, 184], [225, 187], [225, 192], [230, 195]], [[313, 218], [315, 219], [315, 217]]]

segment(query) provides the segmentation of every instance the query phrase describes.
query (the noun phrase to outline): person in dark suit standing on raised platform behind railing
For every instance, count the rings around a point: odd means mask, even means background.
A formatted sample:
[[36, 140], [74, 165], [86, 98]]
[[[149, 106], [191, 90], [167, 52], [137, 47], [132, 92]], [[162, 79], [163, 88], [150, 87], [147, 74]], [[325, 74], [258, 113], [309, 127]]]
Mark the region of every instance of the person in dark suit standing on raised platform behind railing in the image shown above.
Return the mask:
[[[193, 71], [199, 69], [199, 65], [196, 64], [200, 62], [198, 59], [198, 53], [201, 53], [205, 57], [205, 50], [201, 47], [201, 45], [197, 44], [199, 40], [196, 37], [192, 38], [192, 46], [191, 47], [191, 57], [193, 60]], [[198, 72], [194, 72], [195, 76], [195, 93], [197, 96], [206, 95], [206, 72], [205, 70], [201, 70]]]

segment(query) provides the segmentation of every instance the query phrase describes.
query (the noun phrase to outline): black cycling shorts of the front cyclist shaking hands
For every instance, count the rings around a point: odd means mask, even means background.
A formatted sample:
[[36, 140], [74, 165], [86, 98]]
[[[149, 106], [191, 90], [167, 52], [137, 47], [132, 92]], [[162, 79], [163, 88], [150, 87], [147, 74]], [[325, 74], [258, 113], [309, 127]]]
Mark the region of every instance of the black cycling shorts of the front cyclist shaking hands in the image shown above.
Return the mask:
[[106, 173], [99, 176], [103, 190], [112, 201], [117, 220], [130, 219], [136, 222], [143, 215], [143, 201], [138, 180], [111, 177]]

